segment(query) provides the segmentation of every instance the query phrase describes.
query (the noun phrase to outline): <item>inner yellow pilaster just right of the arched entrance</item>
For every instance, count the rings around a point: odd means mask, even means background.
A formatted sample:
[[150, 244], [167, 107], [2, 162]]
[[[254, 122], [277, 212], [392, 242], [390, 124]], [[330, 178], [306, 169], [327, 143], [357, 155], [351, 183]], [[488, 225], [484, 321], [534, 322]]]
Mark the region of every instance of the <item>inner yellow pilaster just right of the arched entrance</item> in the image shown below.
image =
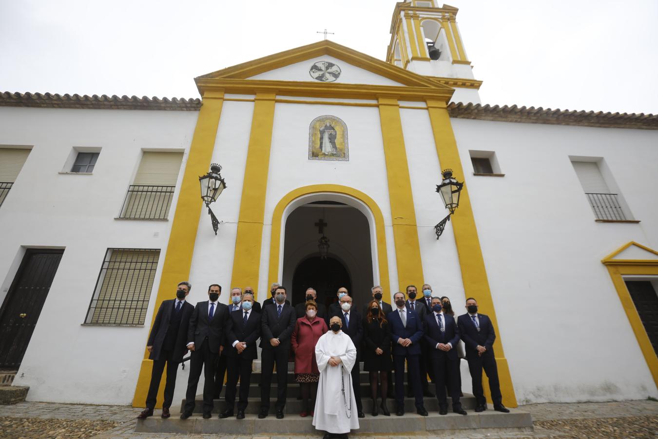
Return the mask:
[[411, 194], [399, 103], [397, 99], [380, 97], [379, 104], [397, 259], [398, 291], [405, 291], [407, 285], [421, 282], [423, 278], [416, 211]]

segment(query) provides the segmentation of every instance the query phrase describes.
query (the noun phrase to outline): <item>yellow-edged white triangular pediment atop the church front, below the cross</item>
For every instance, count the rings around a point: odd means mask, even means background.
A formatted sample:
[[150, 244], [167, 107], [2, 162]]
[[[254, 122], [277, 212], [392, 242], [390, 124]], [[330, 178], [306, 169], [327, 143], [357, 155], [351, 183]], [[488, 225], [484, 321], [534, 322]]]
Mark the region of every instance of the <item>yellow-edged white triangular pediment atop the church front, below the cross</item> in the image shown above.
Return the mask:
[[409, 86], [446, 92], [453, 91], [452, 88], [438, 84], [430, 78], [409, 72], [328, 39], [217, 70], [199, 76], [197, 79], [315, 82], [310, 70], [319, 61], [328, 61], [340, 66], [340, 76], [331, 84]]

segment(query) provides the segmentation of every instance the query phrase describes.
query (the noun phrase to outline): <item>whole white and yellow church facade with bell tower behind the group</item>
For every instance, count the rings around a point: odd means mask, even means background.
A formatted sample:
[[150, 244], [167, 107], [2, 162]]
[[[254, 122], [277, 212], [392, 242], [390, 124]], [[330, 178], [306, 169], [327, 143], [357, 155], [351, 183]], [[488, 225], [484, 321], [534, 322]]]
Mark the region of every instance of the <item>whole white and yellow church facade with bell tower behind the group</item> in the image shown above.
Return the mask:
[[[492, 318], [509, 407], [658, 396], [658, 117], [482, 105], [456, 15], [397, 3], [385, 61], [320, 41], [199, 76], [201, 99], [3, 93], [14, 385], [143, 405], [149, 328], [182, 280], [190, 303], [279, 282], [293, 305], [347, 286], [359, 307], [430, 284]], [[447, 168], [465, 185], [437, 238]]]

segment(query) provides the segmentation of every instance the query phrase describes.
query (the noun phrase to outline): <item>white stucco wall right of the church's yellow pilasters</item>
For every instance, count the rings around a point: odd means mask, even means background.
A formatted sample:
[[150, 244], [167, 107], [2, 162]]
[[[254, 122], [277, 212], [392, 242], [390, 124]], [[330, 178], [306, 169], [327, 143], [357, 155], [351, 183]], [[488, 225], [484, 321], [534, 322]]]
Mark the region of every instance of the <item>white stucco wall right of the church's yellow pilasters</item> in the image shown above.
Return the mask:
[[[658, 247], [658, 132], [451, 122], [519, 403], [657, 396], [601, 259]], [[495, 151], [505, 177], [473, 176], [469, 149]], [[602, 157], [642, 222], [595, 222], [569, 156]]]

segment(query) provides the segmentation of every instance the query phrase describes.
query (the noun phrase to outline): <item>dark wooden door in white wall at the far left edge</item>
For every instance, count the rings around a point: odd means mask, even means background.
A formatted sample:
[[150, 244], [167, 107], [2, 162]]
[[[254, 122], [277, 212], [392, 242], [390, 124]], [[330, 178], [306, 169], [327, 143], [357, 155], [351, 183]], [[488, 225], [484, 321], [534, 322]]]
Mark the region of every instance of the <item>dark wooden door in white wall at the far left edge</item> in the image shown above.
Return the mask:
[[64, 250], [28, 249], [0, 309], [0, 368], [18, 370]]

